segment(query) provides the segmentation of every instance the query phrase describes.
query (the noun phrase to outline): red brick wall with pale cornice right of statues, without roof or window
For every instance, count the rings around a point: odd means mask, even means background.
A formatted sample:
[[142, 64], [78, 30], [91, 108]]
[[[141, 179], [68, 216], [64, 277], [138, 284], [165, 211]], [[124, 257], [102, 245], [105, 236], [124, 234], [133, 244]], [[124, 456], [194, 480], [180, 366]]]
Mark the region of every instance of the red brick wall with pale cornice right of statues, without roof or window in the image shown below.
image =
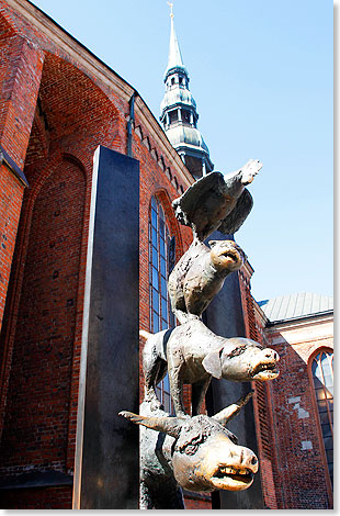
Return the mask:
[[[270, 508], [332, 507], [310, 378], [310, 357], [332, 348], [331, 322], [308, 319], [265, 327], [250, 293], [251, 271], [240, 271], [247, 336], [275, 349], [280, 377], [253, 382], [254, 416], [265, 505]], [[308, 441], [311, 449], [303, 449]], [[310, 480], [313, 479], [313, 481]]]

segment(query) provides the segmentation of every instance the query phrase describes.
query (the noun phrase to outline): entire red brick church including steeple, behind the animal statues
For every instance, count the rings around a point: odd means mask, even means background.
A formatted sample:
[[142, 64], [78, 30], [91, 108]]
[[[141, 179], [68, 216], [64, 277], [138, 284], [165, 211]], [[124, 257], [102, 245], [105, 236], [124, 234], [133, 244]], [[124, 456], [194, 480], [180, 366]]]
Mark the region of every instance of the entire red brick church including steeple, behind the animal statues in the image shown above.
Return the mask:
[[[173, 324], [166, 281], [192, 239], [171, 201], [213, 164], [172, 18], [161, 125], [134, 87], [30, 1], [0, 0], [0, 507], [71, 508], [95, 149], [139, 164], [148, 332]], [[330, 508], [332, 304], [302, 294], [258, 304], [252, 272], [247, 262], [238, 273], [245, 335], [281, 356], [279, 379], [252, 385], [262, 504]], [[167, 379], [158, 389], [170, 408]], [[185, 506], [218, 501], [185, 493]]]

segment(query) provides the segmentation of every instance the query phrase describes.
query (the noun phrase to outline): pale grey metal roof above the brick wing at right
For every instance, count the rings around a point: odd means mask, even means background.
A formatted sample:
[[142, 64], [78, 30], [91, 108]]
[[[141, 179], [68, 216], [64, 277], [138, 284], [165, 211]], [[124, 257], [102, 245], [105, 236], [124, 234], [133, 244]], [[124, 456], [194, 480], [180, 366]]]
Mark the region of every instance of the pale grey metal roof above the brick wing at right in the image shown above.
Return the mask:
[[261, 306], [269, 321], [274, 322], [332, 311], [333, 298], [313, 292], [299, 292], [259, 301], [258, 305]]

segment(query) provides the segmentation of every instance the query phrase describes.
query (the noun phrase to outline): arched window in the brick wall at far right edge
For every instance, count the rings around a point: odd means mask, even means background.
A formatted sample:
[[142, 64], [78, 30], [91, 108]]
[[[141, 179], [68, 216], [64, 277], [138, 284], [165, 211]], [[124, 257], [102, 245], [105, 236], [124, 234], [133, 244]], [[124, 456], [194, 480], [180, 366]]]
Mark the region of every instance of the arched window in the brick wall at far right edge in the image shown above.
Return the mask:
[[311, 363], [314, 389], [331, 483], [333, 483], [333, 354], [321, 351]]

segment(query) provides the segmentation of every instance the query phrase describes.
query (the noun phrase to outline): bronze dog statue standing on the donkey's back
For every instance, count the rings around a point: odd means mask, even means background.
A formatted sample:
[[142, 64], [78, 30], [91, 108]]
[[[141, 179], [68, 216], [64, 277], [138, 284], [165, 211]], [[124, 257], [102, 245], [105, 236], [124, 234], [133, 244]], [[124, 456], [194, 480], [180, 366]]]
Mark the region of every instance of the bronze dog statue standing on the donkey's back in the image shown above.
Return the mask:
[[[146, 336], [146, 333], [143, 333]], [[212, 375], [231, 381], [273, 380], [279, 355], [249, 338], [224, 338], [199, 318], [149, 337], [143, 352], [145, 399], [159, 406], [156, 385], [167, 371], [174, 412], [185, 415], [183, 384], [192, 384], [192, 415], [200, 414]]]

